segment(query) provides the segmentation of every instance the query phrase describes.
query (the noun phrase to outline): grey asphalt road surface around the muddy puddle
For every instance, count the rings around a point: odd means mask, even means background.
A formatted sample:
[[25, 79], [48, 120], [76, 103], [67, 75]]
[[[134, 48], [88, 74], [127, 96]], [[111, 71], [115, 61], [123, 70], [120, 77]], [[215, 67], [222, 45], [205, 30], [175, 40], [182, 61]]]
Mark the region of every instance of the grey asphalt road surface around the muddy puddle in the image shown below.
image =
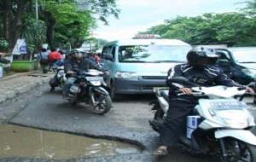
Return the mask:
[[[86, 161], [215, 161], [210, 157], [194, 157], [180, 150], [173, 150], [171, 155], [164, 159], [155, 159], [151, 155], [159, 139], [158, 134], [148, 125], [148, 120], [154, 115], [148, 105], [148, 102], [154, 99], [153, 95], [125, 96], [122, 101], [113, 103], [113, 109], [108, 114], [99, 116], [83, 104], [71, 106], [61, 98], [61, 91], [49, 93], [47, 90], [48, 87], [44, 85], [25, 95], [20, 95], [20, 98], [15, 101], [0, 105], [0, 109], [4, 107], [5, 110], [9, 110], [3, 111], [6, 113], [3, 113], [2, 118], [0, 115], [0, 122], [2, 119], [3, 122], [9, 121], [13, 124], [45, 130], [121, 140], [137, 144], [143, 150], [142, 153], [76, 159], [77, 161], [85, 159]], [[46, 92], [43, 93], [44, 91]], [[41, 161], [40, 159], [30, 160]]]

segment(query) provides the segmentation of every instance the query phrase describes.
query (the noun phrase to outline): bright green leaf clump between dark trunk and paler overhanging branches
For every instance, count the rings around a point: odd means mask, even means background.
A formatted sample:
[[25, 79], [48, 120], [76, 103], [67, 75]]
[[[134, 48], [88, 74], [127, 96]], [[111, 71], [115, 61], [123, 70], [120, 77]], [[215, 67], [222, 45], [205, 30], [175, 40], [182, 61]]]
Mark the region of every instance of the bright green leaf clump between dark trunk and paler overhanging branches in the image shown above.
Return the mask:
[[80, 46], [89, 36], [90, 28], [95, 20], [90, 11], [79, 9], [74, 3], [46, 3], [45, 10], [55, 19], [55, 42], [58, 46], [71, 43], [73, 47]]

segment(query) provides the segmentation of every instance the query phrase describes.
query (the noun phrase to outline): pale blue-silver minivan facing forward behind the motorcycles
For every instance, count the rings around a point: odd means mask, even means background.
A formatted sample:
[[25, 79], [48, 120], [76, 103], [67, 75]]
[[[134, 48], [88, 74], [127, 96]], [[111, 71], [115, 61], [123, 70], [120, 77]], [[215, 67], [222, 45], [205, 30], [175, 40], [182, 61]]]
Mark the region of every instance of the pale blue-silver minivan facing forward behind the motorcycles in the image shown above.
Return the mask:
[[102, 63], [110, 72], [108, 86], [114, 99], [117, 94], [150, 94], [166, 86], [171, 67], [186, 62], [191, 49], [177, 39], [129, 39], [106, 44]]

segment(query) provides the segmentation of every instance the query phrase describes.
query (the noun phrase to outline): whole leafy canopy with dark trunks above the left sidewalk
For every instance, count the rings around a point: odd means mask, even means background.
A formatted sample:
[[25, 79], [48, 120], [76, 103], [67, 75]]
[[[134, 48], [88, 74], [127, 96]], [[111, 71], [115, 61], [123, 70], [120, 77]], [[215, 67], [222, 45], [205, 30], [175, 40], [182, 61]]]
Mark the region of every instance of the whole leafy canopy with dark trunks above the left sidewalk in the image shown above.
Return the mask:
[[40, 43], [79, 47], [97, 19], [108, 24], [108, 16], [119, 14], [115, 0], [2, 0], [0, 10], [0, 40], [8, 44], [9, 52], [18, 38], [26, 38], [31, 50]]

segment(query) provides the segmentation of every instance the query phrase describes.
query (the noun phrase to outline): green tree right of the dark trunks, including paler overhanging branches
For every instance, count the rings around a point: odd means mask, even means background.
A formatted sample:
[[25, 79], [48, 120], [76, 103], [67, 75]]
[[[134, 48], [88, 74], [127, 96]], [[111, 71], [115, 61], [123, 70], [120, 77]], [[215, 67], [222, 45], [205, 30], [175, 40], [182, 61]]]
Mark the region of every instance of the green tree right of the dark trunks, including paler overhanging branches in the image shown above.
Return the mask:
[[119, 13], [115, 0], [47, 0], [42, 5], [47, 41], [52, 47], [57, 41], [69, 42], [73, 47], [79, 46], [95, 26], [95, 15], [108, 23], [107, 17], [110, 14], [117, 17]]

